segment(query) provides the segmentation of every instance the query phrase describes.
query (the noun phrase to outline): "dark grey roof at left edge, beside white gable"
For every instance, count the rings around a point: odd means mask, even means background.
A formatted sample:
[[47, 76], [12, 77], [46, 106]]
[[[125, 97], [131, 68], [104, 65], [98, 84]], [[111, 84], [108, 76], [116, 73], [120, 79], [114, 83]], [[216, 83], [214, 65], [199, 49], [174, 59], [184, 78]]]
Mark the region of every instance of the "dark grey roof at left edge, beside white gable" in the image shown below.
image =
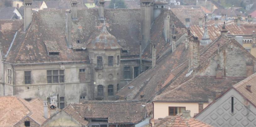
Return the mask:
[[0, 19], [12, 19], [15, 15], [14, 10], [16, 7], [0, 8]]

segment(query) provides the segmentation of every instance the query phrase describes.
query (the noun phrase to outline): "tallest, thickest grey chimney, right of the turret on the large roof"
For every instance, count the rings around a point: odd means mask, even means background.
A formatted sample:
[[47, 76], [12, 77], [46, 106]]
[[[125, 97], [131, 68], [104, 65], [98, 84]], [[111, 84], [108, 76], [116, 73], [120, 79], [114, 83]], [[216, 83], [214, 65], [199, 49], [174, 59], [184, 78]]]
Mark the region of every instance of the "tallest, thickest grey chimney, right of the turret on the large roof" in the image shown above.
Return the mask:
[[140, 12], [141, 12], [141, 35], [142, 35], [142, 50], [145, 49], [150, 40], [150, 26], [152, 20], [152, 4], [148, 0], [140, 1]]

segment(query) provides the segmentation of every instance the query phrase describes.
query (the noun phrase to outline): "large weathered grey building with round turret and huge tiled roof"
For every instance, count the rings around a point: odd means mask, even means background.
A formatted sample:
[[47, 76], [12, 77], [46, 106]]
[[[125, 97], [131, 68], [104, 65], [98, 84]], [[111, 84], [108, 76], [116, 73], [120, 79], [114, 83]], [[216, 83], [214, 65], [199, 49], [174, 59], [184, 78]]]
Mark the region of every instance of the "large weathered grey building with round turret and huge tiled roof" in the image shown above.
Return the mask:
[[64, 103], [59, 108], [115, 100], [119, 89], [187, 33], [172, 10], [154, 9], [154, 2], [141, 1], [141, 9], [104, 9], [105, 2], [99, 3], [97, 9], [78, 9], [74, 0], [70, 10], [57, 10], [46, 2], [47, 10], [32, 15], [33, 3], [25, 0], [24, 24], [2, 21], [0, 94], [43, 100], [56, 94]]

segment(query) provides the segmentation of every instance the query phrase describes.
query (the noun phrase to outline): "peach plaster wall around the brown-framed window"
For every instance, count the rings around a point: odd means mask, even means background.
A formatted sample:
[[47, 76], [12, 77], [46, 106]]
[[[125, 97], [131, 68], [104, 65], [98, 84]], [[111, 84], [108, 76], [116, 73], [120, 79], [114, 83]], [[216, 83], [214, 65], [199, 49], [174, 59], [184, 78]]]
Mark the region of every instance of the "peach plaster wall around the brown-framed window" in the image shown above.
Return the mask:
[[[186, 107], [186, 110], [190, 110], [190, 115], [199, 113], [198, 103], [172, 103], [172, 102], [153, 102], [154, 103], [154, 119], [165, 118], [169, 115], [169, 107]], [[204, 103], [204, 108], [209, 103]]]

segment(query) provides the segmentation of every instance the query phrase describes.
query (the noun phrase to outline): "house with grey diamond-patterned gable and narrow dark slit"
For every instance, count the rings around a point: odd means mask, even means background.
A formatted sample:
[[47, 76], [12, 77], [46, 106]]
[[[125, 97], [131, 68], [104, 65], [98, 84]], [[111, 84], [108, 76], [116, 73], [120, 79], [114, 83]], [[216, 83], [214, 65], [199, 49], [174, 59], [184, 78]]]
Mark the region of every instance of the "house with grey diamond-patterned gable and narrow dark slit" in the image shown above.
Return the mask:
[[255, 126], [255, 77], [253, 74], [232, 86], [195, 118], [219, 127]]

